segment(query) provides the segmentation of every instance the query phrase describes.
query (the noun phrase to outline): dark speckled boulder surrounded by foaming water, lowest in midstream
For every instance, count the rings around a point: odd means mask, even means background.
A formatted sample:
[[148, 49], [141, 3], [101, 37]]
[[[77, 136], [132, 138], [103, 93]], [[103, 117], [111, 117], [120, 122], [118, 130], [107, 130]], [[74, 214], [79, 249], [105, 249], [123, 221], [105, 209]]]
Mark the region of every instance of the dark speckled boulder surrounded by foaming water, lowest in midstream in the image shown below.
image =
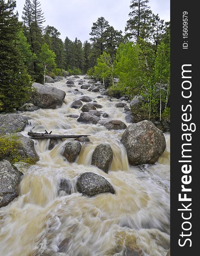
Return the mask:
[[78, 177], [77, 183], [78, 192], [83, 195], [94, 196], [100, 193], [115, 194], [113, 186], [102, 176], [93, 172], [85, 172]]

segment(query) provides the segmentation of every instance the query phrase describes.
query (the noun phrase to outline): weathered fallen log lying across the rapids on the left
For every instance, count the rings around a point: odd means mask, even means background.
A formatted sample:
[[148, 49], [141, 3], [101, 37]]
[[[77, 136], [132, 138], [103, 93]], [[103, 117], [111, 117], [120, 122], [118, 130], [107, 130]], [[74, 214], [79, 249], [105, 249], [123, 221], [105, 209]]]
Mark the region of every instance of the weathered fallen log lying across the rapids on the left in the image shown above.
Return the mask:
[[71, 138], [80, 138], [80, 137], [87, 137], [90, 135], [60, 135], [60, 134], [48, 134], [46, 131], [45, 133], [37, 133], [37, 132], [28, 132], [28, 135], [33, 140], [48, 140], [48, 139], [71, 139]]

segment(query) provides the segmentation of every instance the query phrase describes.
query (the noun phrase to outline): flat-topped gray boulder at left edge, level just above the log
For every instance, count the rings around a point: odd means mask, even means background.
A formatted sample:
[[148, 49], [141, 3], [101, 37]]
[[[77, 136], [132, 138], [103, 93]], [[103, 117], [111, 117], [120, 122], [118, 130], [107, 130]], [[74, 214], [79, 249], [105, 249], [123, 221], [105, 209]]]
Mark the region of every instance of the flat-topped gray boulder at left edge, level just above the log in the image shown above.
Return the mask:
[[23, 131], [28, 125], [28, 119], [19, 114], [0, 115], [0, 134]]

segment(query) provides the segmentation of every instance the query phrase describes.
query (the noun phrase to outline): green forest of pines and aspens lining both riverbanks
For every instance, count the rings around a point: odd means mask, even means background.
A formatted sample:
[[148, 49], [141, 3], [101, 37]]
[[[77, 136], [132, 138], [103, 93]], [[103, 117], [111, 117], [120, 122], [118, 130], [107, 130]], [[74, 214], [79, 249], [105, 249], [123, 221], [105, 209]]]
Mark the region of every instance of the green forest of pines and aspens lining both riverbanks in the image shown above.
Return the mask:
[[15, 7], [15, 0], [0, 0], [0, 111], [26, 101], [33, 81], [67, 70], [101, 79], [113, 94], [142, 96], [149, 119], [169, 116], [170, 22], [153, 14], [148, 0], [131, 0], [125, 35], [99, 17], [84, 44], [68, 37], [63, 42], [58, 29], [44, 27], [39, 0], [25, 1], [23, 22]]

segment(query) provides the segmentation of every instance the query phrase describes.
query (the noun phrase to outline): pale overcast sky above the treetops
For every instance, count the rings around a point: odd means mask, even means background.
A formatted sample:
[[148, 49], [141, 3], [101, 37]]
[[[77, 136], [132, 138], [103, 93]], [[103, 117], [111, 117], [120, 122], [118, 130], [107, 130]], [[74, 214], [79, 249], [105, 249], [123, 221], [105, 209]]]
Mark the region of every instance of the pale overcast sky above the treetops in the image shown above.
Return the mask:
[[[130, 12], [130, 0], [40, 0], [46, 22], [72, 41], [90, 38], [93, 22], [103, 16], [111, 26], [124, 32]], [[16, 0], [21, 20], [25, 0]], [[170, 20], [170, 0], [150, 0], [149, 6], [162, 20]]]

